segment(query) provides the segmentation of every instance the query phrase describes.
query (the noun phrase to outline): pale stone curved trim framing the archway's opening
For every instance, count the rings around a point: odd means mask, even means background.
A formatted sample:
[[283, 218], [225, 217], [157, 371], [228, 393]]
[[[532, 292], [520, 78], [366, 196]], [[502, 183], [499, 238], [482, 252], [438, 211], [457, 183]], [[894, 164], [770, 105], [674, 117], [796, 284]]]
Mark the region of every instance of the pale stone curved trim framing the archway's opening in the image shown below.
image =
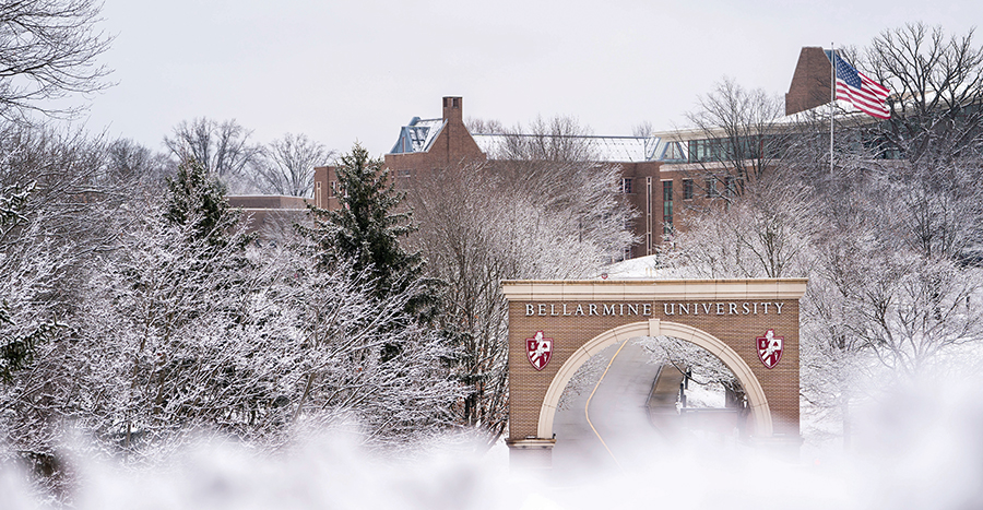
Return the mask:
[[550, 381], [549, 388], [546, 390], [546, 396], [543, 399], [543, 405], [540, 408], [537, 436], [541, 438], [553, 437], [553, 419], [556, 415], [556, 406], [559, 403], [560, 395], [564, 393], [567, 383], [570, 382], [570, 378], [577, 372], [577, 369], [587, 363], [588, 359], [617, 342], [638, 336], [663, 335], [694, 343], [719, 357], [734, 372], [734, 376], [737, 377], [737, 380], [741, 381], [744, 391], [747, 393], [748, 405], [750, 406], [755, 424], [755, 435], [758, 437], [771, 437], [773, 435], [771, 410], [768, 406], [765, 390], [750, 367], [733, 348], [716, 336], [697, 328], [678, 322], [650, 319], [620, 325], [601, 333], [583, 344], [564, 363], [553, 381]]

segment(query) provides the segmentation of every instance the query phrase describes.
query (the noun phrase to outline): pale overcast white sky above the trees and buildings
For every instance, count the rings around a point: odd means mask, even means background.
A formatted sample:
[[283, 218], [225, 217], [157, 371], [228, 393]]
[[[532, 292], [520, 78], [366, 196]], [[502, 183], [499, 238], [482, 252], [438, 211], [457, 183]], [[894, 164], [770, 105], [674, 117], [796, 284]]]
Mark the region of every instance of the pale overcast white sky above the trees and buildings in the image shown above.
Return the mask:
[[103, 17], [117, 84], [92, 98], [92, 131], [163, 150], [203, 116], [381, 155], [446, 95], [506, 126], [672, 129], [724, 75], [784, 94], [803, 46], [863, 47], [913, 21], [963, 34], [983, 1], [106, 0]]

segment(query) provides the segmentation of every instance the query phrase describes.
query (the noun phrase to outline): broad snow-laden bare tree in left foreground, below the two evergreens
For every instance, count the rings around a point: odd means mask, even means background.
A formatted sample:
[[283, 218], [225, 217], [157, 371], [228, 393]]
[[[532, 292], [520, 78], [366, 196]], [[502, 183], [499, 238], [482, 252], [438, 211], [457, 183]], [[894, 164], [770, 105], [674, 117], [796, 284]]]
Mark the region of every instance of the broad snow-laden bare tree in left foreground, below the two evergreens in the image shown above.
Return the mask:
[[4, 442], [51, 455], [71, 425], [139, 461], [191, 434], [269, 450], [346, 424], [380, 448], [446, 429], [460, 392], [446, 344], [405, 312], [414, 289], [377, 299], [351, 263], [244, 252], [237, 228], [212, 244], [165, 211], [131, 207], [64, 334], [5, 389]]

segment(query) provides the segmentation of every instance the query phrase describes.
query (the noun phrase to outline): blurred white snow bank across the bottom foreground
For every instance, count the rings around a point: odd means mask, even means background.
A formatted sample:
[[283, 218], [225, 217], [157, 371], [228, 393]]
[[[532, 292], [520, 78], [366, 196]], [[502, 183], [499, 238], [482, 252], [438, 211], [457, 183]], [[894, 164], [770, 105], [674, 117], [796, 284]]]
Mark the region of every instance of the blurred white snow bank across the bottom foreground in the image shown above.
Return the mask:
[[[959, 381], [959, 382], [956, 382]], [[950, 375], [898, 384], [858, 411], [855, 452], [804, 449], [789, 464], [746, 450], [653, 452], [626, 473], [577, 484], [510, 473], [505, 448], [431, 448], [386, 462], [350, 436], [279, 458], [202, 444], [152, 470], [75, 459], [79, 509], [948, 509], [983, 506], [983, 386]], [[587, 467], [585, 467], [587, 470]], [[36, 508], [23, 477], [0, 473], [0, 507]]]

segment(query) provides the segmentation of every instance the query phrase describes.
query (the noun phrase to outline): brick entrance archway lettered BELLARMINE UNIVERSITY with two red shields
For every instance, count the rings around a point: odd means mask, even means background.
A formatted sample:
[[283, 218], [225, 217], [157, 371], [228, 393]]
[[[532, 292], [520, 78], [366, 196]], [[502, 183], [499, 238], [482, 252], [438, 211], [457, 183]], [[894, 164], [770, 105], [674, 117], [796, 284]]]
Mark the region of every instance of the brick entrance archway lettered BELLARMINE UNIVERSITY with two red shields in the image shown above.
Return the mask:
[[[509, 439], [513, 465], [552, 465], [553, 419], [567, 382], [604, 347], [638, 336], [673, 336], [718, 356], [744, 386], [753, 440], [780, 448], [798, 434], [798, 299], [804, 278], [660, 281], [507, 281]], [[552, 341], [535, 366], [526, 341]], [[757, 337], [772, 331], [783, 354], [771, 367]]]

